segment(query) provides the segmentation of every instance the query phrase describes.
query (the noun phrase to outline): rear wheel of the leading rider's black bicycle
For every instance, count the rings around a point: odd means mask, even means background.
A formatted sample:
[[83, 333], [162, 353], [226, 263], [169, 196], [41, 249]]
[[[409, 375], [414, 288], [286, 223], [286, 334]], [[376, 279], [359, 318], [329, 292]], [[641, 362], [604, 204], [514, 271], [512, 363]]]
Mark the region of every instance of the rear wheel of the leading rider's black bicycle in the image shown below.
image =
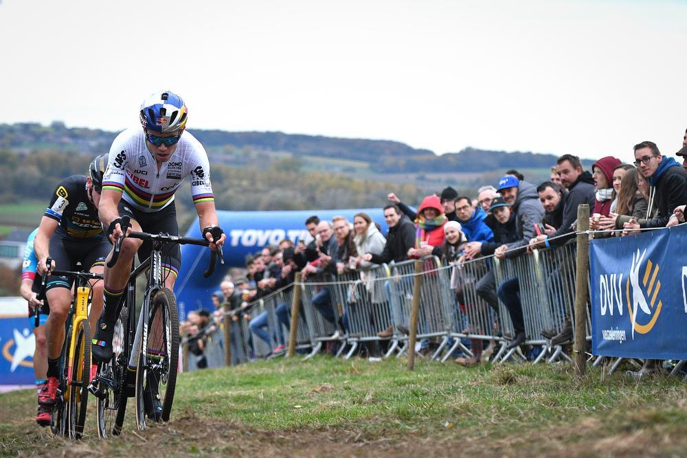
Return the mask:
[[[98, 423], [98, 437], [104, 439], [111, 435], [118, 435], [124, 424], [124, 411], [126, 411], [126, 358], [124, 357], [124, 325], [125, 319], [117, 319], [115, 334], [112, 339], [112, 359], [107, 363], [100, 363], [98, 376], [107, 378], [112, 385], [99, 382], [98, 408], [95, 417]], [[100, 385], [102, 384], [102, 385]]]

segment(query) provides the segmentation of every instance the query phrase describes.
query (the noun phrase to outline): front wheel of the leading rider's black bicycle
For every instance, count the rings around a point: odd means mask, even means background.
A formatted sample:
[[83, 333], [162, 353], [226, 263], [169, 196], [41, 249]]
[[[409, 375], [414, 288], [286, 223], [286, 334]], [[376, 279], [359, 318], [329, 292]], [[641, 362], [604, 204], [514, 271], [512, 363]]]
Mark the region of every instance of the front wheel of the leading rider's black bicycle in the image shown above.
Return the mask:
[[[179, 318], [177, 299], [167, 288], [150, 302], [147, 339], [141, 339], [136, 371], [136, 423], [146, 428], [170, 418], [179, 365]], [[144, 333], [146, 335], [146, 333]]]

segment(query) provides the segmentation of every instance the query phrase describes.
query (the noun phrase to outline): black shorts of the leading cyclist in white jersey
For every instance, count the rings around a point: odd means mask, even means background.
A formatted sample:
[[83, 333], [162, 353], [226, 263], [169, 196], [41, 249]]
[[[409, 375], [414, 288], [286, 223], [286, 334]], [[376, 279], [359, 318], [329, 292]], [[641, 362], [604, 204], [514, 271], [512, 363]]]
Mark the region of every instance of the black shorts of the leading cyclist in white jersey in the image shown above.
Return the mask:
[[[131, 207], [122, 199], [118, 209], [120, 216], [126, 215], [135, 220], [144, 232], [168, 233], [170, 236], [179, 235], [177, 207], [174, 205], [174, 202], [154, 213], [146, 213]], [[151, 251], [153, 251], [153, 242], [150, 240], [144, 241], [138, 250], [139, 262], [144, 262], [148, 259]], [[179, 275], [179, 269], [181, 268], [181, 248], [179, 244], [165, 244], [162, 248], [162, 268], [172, 271], [175, 277]]]

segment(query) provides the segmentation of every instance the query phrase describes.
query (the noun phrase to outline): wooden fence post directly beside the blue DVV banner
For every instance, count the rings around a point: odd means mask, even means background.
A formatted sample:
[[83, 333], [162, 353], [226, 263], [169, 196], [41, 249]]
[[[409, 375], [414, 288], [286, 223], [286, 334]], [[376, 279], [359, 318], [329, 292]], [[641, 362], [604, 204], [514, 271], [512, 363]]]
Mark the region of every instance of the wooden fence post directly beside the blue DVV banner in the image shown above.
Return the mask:
[[587, 370], [587, 297], [589, 296], [589, 205], [577, 207], [577, 270], [575, 273], [575, 342], [572, 347], [575, 375]]

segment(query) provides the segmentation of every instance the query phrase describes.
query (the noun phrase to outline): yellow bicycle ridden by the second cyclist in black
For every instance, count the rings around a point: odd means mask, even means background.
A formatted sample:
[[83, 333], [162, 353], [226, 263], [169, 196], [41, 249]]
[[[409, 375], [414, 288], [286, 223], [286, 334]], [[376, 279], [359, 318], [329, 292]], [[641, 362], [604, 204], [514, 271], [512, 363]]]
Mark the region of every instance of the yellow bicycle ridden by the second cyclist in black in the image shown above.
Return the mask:
[[[47, 266], [52, 259], [47, 258]], [[102, 280], [102, 274], [76, 271], [46, 271], [41, 281], [39, 299], [45, 298], [45, 279], [48, 275], [75, 279], [76, 294], [67, 315], [65, 343], [60, 354], [60, 376], [55, 403], [52, 407], [50, 428], [54, 434], [80, 439], [86, 422], [89, 379], [91, 376], [91, 328], [88, 323], [88, 306], [91, 301], [90, 280]], [[34, 310], [36, 326], [38, 311]]]

